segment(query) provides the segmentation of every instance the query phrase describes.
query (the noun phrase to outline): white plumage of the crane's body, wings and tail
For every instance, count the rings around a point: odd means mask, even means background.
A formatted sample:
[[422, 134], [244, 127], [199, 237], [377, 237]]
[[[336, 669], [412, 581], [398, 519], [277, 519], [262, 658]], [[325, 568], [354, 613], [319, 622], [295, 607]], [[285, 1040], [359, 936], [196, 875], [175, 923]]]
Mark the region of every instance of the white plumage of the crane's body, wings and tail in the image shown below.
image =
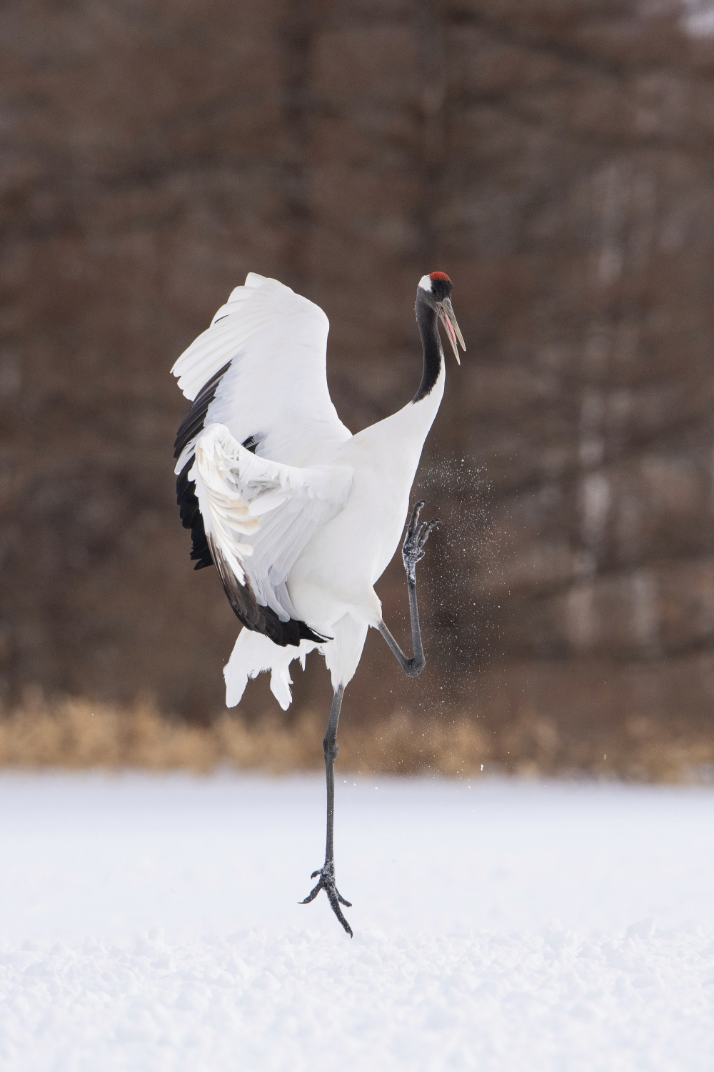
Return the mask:
[[[328, 391], [328, 331], [312, 301], [252, 272], [172, 370], [193, 400], [230, 361], [177, 465], [195, 456], [188, 478], [209, 542], [259, 605], [331, 638], [286, 649], [243, 629], [224, 671], [230, 706], [248, 678], [270, 670], [287, 709], [289, 662], [317, 646], [335, 688], [352, 678], [367, 628], [381, 621], [373, 585], [397, 548], [443, 394], [442, 363], [424, 400], [352, 436]], [[255, 453], [241, 446], [249, 437]]]

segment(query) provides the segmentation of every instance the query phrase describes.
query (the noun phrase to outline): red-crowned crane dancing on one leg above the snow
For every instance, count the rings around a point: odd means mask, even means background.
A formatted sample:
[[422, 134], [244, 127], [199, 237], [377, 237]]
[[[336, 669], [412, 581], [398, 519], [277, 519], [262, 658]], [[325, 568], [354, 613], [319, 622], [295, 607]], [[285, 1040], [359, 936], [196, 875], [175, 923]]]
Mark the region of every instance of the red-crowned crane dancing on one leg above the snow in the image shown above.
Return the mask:
[[444, 392], [438, 322], [458, 361], [466, 349], [444, 272], [416, 288], [424, 348], [419, 390], [402, 410], [352, 435], [332, 404], [325, 374], [330, 324], [322, 310], [274, 279], [250, 272], [173, 366], [193, 405], [176, 440], [177, 498], [191, 528], [196, 569], [215, 565], [243, 623], [224, 669], [234, 706], [248, 678], [271, 672], [271, 689], [290, 704], [289, 667], [318, 649], [334, 698], [322, 742], [328, 834], [319, 880], [351, 936], [335, 884], [334, 765], [345, 686], [367, 629], [379, 629], [406, 674], [424, 669], [416, 563], [435, 521], [414, 506], [401, 554], [407, 571], [413, 656], [382, 621], [373, 585], [399, 542], [424, 441]]

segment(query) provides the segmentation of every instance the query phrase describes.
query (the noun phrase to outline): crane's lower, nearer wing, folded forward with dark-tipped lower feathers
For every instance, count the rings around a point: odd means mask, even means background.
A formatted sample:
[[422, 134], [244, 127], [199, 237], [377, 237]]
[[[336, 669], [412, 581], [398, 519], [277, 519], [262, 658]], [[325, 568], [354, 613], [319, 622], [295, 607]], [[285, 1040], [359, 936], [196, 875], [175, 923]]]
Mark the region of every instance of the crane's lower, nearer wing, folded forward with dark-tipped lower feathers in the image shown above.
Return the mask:
[[256, 457], [218, 423], [198, 436], [195, 457], [188, 478], [238, 617], [283, 646], [325, 639], [299, 620], [286, 581], [313, 534], [344, 505], [352, 471]]

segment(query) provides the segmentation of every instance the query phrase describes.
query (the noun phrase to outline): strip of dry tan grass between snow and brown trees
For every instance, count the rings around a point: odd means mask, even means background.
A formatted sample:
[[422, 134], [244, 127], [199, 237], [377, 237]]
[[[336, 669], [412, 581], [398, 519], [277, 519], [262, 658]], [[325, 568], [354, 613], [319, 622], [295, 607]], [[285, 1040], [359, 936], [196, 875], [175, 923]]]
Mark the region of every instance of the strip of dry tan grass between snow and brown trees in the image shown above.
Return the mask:
[[[0, 717], [0, 766], [135, 768], [208, 773], [224, 764], [282, 774], [322, 765], [324, 718], [304, 711], [288, 720], [265, 716], [248, 724], [227, 713], [209, 726], [162, 714], [150, 700], [132, 708], [82, 699], [47, 701], [29, 690]], [[362, 774], [478, 776], [482, 773], [618, 777], [683, 781], [711, 778], [714, 732], [685, 731], [638, 718], [596, 739], [569, 740], [553, 721], [521, 714], [500, 732], [468, 715], [432, 723], [396, 712], [377, 726], [345, 721], [339, 765]], [[482, 768], [483, 764], [483, 768]]]

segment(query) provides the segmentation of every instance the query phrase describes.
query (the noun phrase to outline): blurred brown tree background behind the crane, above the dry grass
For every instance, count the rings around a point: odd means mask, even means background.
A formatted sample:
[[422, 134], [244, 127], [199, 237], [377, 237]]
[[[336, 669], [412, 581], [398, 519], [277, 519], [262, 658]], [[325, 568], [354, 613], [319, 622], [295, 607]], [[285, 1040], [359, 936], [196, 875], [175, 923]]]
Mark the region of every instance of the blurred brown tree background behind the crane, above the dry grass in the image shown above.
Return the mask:
[[[468, 352], [415, 489], [444, 521], [427, 671], [371, 635], [350, 718], [709, 724], [707, 4], [15, 0], [0, 28], [6, 703], [218, 712], [238, 623], [188, 560], [171, 364], [247, 271], [276, 277], [328, 313], [356, 431], [413, 394], [440, 269]], [[378, 592], [406, 639], [398, 561]], [[328, 701], [310, 661], [295, 710]], [[250, 686], [248, 714], [271, 703]]]

